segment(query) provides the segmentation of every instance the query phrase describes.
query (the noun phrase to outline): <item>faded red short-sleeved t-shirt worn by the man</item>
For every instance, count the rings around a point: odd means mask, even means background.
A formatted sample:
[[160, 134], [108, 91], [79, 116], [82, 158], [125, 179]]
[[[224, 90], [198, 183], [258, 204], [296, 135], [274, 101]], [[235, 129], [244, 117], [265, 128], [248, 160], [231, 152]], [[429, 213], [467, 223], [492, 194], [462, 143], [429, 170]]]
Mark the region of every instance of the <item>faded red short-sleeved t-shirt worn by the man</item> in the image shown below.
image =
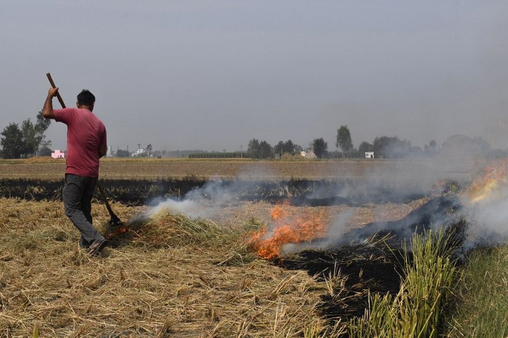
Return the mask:
[[99, 176], [99, 147], [106, 145], [106, 127], [88, 109], [54, 109], [55, 120], [67, 125], [67, 174]]

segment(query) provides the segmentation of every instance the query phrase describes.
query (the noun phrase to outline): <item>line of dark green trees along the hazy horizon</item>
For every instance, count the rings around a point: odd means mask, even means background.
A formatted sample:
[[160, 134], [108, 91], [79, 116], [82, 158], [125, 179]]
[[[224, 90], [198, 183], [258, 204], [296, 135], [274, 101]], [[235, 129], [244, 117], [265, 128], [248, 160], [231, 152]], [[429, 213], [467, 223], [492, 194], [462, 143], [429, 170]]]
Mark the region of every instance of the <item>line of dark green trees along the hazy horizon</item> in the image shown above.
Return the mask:
[[[33, 155], [49, 156], [51, 155], [51, 141], [46, 140], [45, 132], [49, 128], [51, 120], [46, 119], [40, 111], [36, 115], [35, 123], [29, 118], [21, 124], [11, 123], [0, 133], [0, 157], [4, 159], [27, 158]], [[481, 138], [473, 139], [475, 144], [482, 148], [490, 147], [488, 142]], [[439, 151], [437, 143], [431, 140], [424, 148], [412, 146], [408, 140], [401, 140], [397, 136], [378, 136], [372, 143], [363, 141], [358, 148], [355, 148], [351, 138], [351, 132], [347, 126], [340, 126], [337, 129], [335, 139], [336, 149], [328, 150], [328, 143], [323, 137], [315, 138], [304, 149], [295, 144], [292, 140], [278, 141], [272, 146], [265, 140], [256, 138], [248, 142], [245, 152], [223, 152], [202, 150], [177, 150], [175, 154], [169, 155], [189, 158], [253, 158], [253, 159], [271, 159], [274, 157], [282, 158], [285, 154], [295, 155], [302, 150], [313, 151], [317, 158], [364, 158], [366, 152], [374, 152], [375, 158], [398, 159], [405, 157], [425, 157], [432, 156]], [[152, 145], [148, 144], [145, 151], [138, 154], [140, 157], [162, 157], [168, 153], [166, 150], [153, 150]], [[130, 157], [128, 150], [118, 149], [117, 157]]]

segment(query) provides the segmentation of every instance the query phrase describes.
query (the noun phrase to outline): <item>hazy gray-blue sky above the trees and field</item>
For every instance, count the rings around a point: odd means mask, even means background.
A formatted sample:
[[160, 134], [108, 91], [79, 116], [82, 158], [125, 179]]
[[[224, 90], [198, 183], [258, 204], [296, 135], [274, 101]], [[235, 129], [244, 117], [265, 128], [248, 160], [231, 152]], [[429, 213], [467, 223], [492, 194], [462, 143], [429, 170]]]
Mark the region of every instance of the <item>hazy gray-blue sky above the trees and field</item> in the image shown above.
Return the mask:
[[35, 117], [49, 71], [68, 106], [96, 95], [114, 149], [333, 150], [340, 125], [506, 148], [507, 62], [506, 1], [0, 0], [0, 129]]

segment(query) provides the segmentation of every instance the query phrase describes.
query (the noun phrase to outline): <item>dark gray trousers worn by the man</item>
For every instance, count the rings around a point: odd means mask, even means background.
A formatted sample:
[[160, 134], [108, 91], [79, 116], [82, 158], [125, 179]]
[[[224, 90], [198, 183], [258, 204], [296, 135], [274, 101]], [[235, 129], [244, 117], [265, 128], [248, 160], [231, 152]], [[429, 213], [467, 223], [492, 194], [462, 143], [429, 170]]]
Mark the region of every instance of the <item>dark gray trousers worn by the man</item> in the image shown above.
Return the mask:
[[65, 175], [63, 188], [63, 206], [65, 213], [81, 233], [79, 245], [88, 248], [95, 241], [104, 237], [92, 225], [92, 197], [97, 186], [97, 177], [85, 177], [73, 174]]

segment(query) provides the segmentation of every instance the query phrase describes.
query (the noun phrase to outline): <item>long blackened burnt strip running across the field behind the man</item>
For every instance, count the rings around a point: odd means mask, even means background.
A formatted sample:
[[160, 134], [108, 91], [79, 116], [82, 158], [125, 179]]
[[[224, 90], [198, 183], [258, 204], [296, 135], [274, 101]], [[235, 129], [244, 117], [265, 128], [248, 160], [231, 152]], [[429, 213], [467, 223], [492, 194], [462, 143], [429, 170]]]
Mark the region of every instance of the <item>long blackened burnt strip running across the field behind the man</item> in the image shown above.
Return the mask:
[[[365, 203], [406, 203], [426, 196], [429, 191], [406, 190], [393, 193], [396, 183], [386, 183], [369, 189], [362, 181], [351, 179], [280, 181], [205, 181], [189, 176], [182, 179], [158, 180], [100, 180], [106, 195], [126, 205], [154, 205], [168, 197], [183, 199], [194, 197], [215, 199], [226, 193], [236, 201], [266, 201], [277, 204], [289, 200], [295, 206], [361, 206]], [[25, 200], [61, 200], [62, 180], [4, 179], [0, 180], [0, 197]], [[353, 189], [354, 187], [354, 189]], [[198, 191], [197, 191], [198, 190]], [[411, 191], [411, 192], [409, 192]], [[346, 197], [344, 197], [346, 196]], [[96, 194], [96, 198], [100, 196]]]

